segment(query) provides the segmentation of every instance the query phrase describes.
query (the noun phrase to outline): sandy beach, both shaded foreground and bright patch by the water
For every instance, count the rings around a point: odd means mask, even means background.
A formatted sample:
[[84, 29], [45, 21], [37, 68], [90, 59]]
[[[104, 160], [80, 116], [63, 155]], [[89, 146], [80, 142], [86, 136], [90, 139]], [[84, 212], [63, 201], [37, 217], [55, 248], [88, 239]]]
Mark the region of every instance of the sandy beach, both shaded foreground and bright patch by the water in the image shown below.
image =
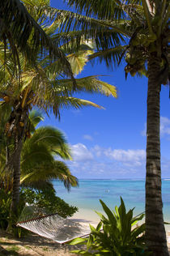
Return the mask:
[[[70, 219], [76, 220], [84, 227], [92, 224], [96, 227], [100, 217], [96, 212], [87, 209], [79, 209]], [[37, 234], [29, 233], [28, 236], [15, 239], [9, 233], [0, 230], [0, 256], [74, 256], [71, 250], [77, 250], [78, 246], [60, 245], [56, 241], [40, 237]], [[170, 231], [167, 231], [168, 249], [170, 253]]]

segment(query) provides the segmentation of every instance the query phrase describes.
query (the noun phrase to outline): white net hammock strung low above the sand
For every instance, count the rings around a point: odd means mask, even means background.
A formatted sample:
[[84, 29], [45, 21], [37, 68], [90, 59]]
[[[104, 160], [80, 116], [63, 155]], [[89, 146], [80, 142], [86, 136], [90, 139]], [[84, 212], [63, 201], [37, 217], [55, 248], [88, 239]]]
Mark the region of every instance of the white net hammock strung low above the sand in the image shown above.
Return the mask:
[[89, 224], [82, 219], [64, 219], [57, 213], [51, 214], [35, 206], [23, 209], [17, 226], [60, 244], [76, 237], [86, 237], [91, 233]]

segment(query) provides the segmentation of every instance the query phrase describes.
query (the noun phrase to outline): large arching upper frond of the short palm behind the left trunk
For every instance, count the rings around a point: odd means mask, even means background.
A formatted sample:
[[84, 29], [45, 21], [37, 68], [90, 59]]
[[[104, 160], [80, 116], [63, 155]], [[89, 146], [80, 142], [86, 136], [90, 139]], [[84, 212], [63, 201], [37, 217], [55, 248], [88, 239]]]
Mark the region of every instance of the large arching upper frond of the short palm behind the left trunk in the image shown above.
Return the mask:
[[71, 160], [70, 147], [64, 134], [51, 126], [42, 126], [32, 134], [32, 138], [23, 143], [22, 170], [28, 172], [36, 164], [51, 163], [53, 157]]

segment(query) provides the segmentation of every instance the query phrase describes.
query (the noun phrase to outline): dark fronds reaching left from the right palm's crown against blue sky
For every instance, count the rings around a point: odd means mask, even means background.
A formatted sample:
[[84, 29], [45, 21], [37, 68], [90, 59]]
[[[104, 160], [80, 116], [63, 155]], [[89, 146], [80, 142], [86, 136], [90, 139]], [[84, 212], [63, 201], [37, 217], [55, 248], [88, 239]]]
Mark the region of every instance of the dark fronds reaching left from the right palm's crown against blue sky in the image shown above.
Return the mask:
[[[62, 40], [66, 43], [68, 41], [74, 47], [79, 48], [81, 39], [86, 41], [93, 40], [96, 44], [98, 55], [91, 55], [89, 59], [98, 57], [102, 61], [102, 51], [109, 51], [105, 54], [107, 65], [112, 65], [113, 62], [119, 60], [121, 53], [125, 49], [125, 35], [121, 35], [123, 26], [114, 29], [115, 22], [111, 25], [108, 20], [94, 19], [89, 16], [80, 15], [71, 11], [63, 11], [52, 8], [54, 23], [57, 24], [59, 30], [62, 32]], [[71, 31], [73, 32], [71, 32]], [[68, 35], [68, 36], [66, 36]], [[117, 50], [115, 49], [117, 46]]]

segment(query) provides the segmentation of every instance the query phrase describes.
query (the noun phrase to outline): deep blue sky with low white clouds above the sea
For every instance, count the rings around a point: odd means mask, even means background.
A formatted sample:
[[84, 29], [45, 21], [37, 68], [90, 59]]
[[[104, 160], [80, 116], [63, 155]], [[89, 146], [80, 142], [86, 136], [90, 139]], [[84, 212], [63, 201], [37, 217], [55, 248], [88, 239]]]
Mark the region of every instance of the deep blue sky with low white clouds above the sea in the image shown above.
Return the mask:
[[[51, 6], [66, 9], [62, 1]], [[147, 79], [128, 77], [124, 66], [108, 70], [104, 63], [88, 63], [79, 77], [107, 75], [101, 79], [117, 86], [118, 98], [101, 95], [79, 95], [102, 105], [80, 110], [64, 109], [61, 121], [53, 115], [43, 125], [55, 126], [66, 134], [74, 160], [67, 163], [79, 178], [143, 178], [146, 159]], [[161, 90], [162, 177], [170, 177], [170, 113], [168, 87]]]

